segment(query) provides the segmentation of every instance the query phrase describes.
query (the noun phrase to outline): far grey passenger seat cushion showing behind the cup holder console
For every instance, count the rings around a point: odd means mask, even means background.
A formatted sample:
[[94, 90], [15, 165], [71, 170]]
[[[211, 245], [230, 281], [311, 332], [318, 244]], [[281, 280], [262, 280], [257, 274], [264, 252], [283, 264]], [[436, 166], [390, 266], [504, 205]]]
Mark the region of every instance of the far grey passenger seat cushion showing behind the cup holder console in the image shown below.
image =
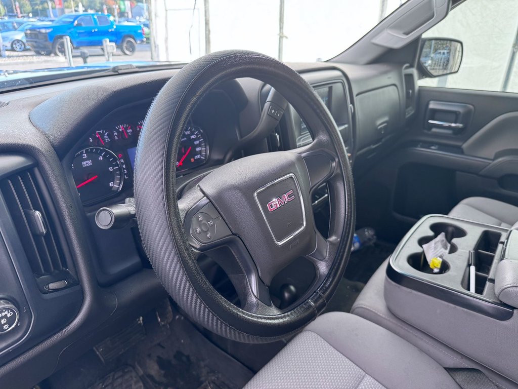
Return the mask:
[[518, 221], [518, 207], [486, 197], [469, 197], [453, 207], [449, 215], [510, 228]]

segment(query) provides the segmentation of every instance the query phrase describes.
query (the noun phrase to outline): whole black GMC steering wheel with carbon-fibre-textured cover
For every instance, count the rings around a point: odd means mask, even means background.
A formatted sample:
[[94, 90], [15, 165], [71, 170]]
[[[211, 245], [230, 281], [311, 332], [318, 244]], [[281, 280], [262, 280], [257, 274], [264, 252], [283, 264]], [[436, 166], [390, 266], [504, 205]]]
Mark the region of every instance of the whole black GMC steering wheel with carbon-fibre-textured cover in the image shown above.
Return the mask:
[[[176, 156], [194, 108], [220, 82], [241, 77], [280, 92], [304, 119], [312, 143], [224, 164], [178, 199]], [[279, 109], [269, 105], [263, 114], [272, 108]], [[311, 205], [323, 183], [330, 200], [328, 238], [315, 228]], [[336, 123], [298, 73], [260, 53], [208, 54], [165, 84], [138, 142], [135, 201], [143, 245], [169, 295], [194, 322], [241, 342], [274, 341], [312, 321], [333, 296], [351, 251], [353, 180]], [[198, 266], [197, 255], [215, 251], [242, 308], [221, 296]], [[268, 286], [300, 257], [313, 263], [314, 280], [296, 303], [279, 309]]]

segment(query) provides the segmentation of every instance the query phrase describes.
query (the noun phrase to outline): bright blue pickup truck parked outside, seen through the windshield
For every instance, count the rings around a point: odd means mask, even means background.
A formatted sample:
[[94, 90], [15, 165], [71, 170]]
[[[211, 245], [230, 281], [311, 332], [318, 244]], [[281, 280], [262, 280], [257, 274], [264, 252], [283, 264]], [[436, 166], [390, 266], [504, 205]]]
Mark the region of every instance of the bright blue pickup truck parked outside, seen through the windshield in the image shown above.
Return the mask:
[[102, 46], [108, 38], [123, 54], [132, 55], [137, 43], [146, 40], [143, 27], [116, 24], [106, 13], [66, 13], [52, 24], [34, 26], [25, 30], [27, 45], [41, 55], [63, 55], [63, 37], [69, 36], [74, 48]]

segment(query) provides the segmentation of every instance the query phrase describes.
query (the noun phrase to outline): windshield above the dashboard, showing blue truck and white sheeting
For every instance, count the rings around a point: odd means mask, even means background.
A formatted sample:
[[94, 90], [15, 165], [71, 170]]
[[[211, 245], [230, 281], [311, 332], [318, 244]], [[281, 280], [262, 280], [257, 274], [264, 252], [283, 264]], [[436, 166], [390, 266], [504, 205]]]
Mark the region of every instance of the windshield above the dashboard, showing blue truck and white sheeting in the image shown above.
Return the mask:
[[34, 71], [41, 69], [65, 73], [99, 64], [189, 62], [224, 49], [254, 50], [286, 62], [325, 61], [404, 1], [6, 1], [0, 16], [22, 19], [0, 19], [2, 31], [24, 35], [3, 38], [0, 70], [11, 78], [32, 71], [34, 82]]

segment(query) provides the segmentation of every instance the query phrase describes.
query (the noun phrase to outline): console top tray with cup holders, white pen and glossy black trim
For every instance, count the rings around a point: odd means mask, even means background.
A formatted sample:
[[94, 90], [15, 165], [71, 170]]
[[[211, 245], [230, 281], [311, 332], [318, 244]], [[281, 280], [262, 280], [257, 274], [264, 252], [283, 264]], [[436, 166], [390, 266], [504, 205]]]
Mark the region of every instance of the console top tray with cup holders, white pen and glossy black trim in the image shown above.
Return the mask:
[[[429, 267], [422, 246], [444, 232], [450, 243], [439, 272]], [[495, 274], [508, 230], [443, 215], [422, 218], [390, 259], [387, 276], [398, 285], [425, 293], [497, 320], [513, 308], [495, 294]], [[469, 252], [475, 257], [475, 290], [469, 291]]]

